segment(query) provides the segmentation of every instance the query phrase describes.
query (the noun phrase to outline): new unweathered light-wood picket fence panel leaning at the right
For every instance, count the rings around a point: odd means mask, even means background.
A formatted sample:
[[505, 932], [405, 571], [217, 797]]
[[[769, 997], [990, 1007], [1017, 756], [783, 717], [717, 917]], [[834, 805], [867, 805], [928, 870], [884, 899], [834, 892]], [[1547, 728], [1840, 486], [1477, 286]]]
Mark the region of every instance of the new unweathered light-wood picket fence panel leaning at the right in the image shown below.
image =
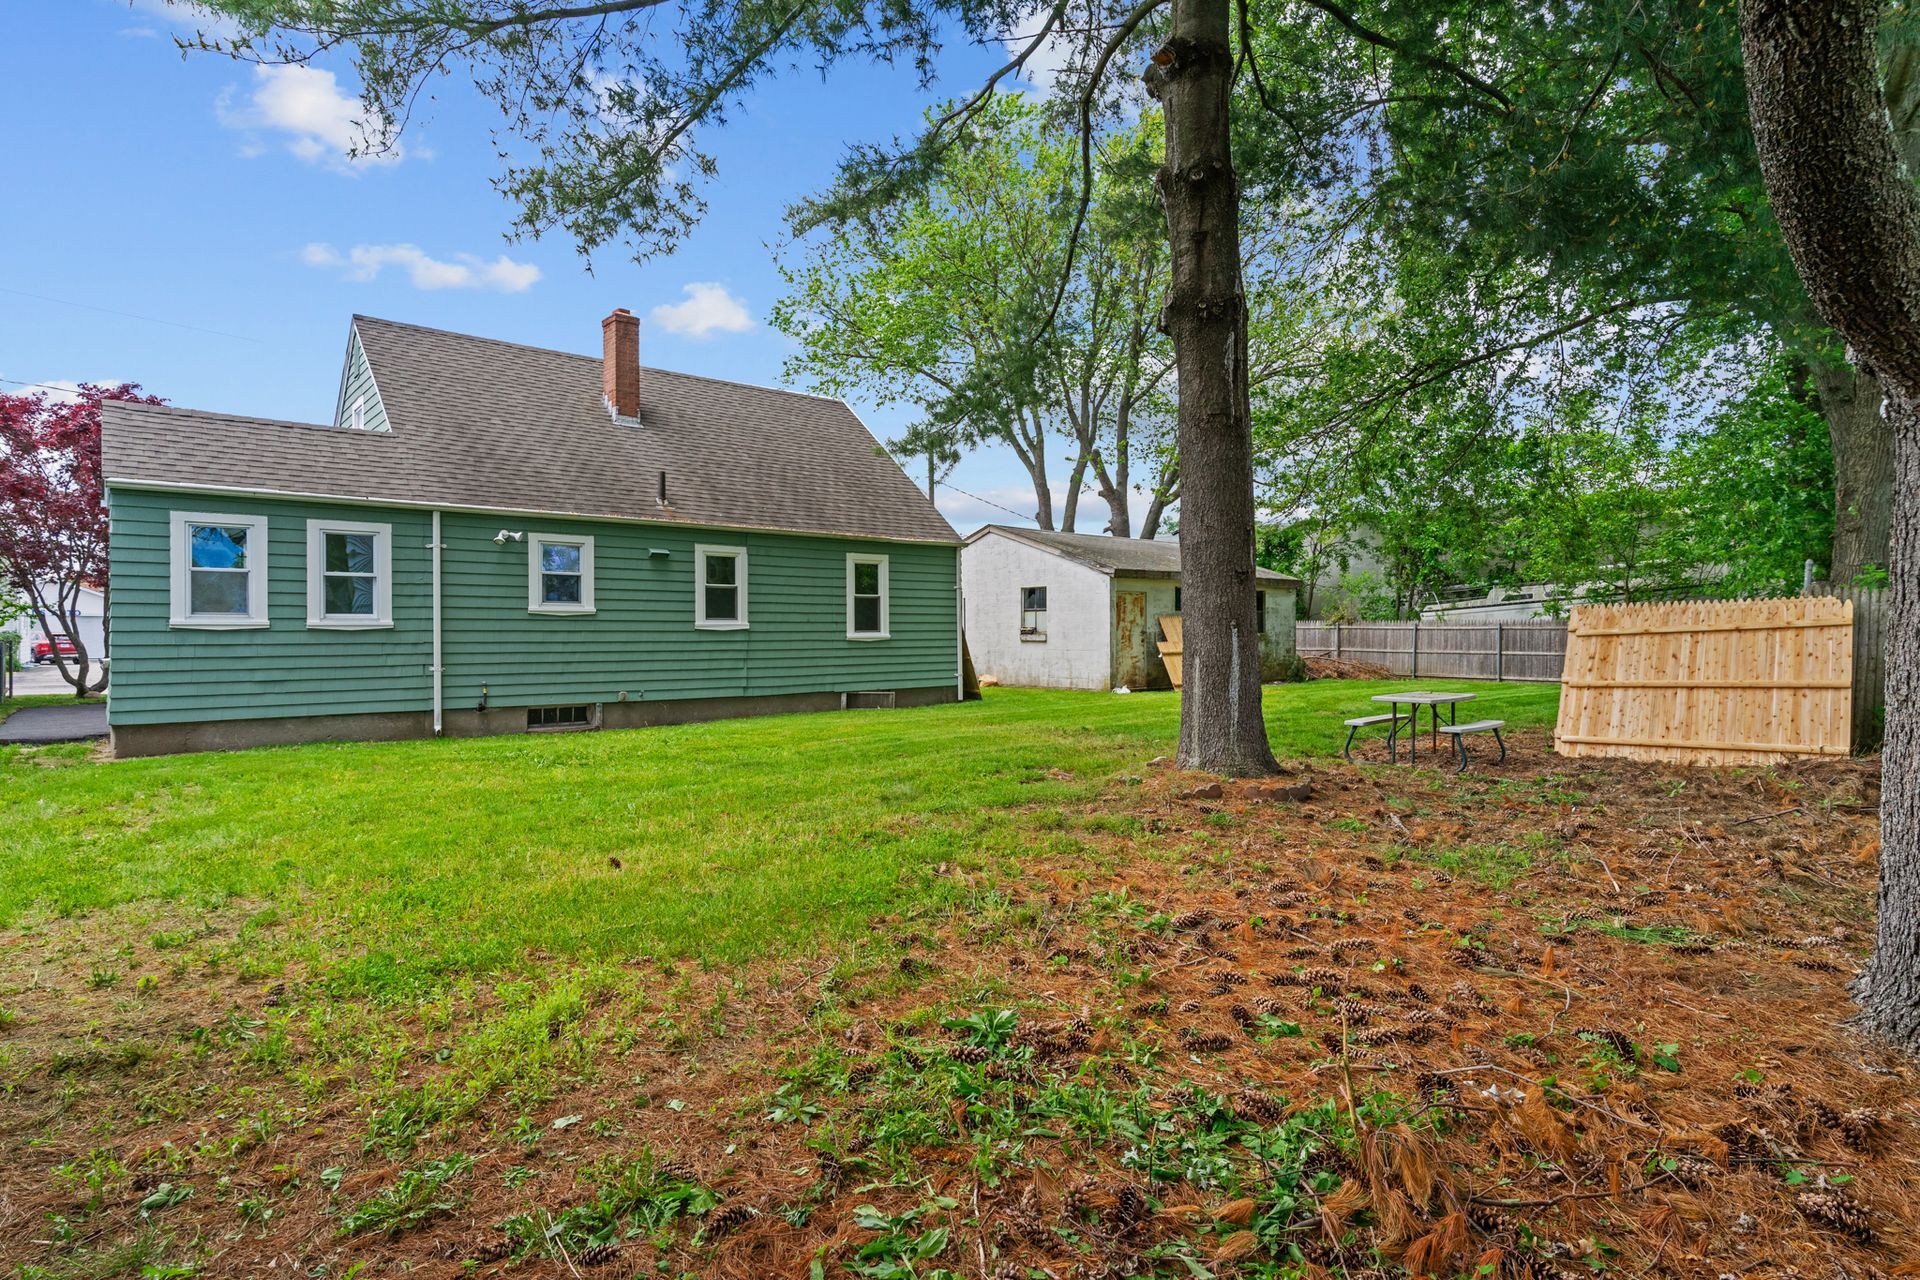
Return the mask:
[[1674, 764], [1845, 756], [1853, 603], [1576, 604], [1553, 748]]

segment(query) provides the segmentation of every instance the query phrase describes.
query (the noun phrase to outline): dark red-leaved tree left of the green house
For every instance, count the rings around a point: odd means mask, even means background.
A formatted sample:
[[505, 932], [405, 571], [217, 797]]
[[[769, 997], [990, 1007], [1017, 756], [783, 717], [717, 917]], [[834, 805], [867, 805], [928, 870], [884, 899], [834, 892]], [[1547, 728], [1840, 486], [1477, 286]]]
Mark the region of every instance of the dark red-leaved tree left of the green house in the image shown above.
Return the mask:
[[106, 593], [108, 509], [100, 478], [100, 405], [109, 399], [161, 405], [132, 382], [83, 386], [73, 399], [44, 391], [0, 393], [0, 580], [27, 599], [54, 645], [54, 664], [79, 693], [108, 683], [106, 654], [86, 652], [81, 587]]

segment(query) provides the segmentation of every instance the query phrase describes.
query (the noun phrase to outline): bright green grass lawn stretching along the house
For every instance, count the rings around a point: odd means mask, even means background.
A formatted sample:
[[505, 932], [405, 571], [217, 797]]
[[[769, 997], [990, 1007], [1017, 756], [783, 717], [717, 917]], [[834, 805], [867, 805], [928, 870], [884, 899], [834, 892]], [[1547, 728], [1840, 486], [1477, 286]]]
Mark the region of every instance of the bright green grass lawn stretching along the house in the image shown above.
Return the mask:
[[[1557, 685], [1419, 681], [1551, 723]], [[1283, 758], [1413, 681], [1267, 689]], [[301, 921], [338, 990], [403, 992], [530, 952], [741, 960], [954, 892], [939, 864], [1073, 842], [1081, 802], [1167, 754], [1173, 693], [618, 733], [355, 743], [98, 764], [0, 748], [0, 925], [228, 900]], [[618, 867], [614, 865], [618, 860]]]

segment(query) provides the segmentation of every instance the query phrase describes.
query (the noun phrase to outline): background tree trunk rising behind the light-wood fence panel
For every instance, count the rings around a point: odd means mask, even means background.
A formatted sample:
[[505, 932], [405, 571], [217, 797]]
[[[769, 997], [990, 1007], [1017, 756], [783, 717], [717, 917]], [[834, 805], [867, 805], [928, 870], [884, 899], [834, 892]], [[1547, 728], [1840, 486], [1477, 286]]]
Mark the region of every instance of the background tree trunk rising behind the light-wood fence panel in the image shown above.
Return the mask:
[[1834, 445], [1834, 551], [1830, 581], [1887, 566], [1893, 524], [1893, 432], [1880, 415], [1880, 380], [1851, 365], [1814, 361], [1814, 393]]

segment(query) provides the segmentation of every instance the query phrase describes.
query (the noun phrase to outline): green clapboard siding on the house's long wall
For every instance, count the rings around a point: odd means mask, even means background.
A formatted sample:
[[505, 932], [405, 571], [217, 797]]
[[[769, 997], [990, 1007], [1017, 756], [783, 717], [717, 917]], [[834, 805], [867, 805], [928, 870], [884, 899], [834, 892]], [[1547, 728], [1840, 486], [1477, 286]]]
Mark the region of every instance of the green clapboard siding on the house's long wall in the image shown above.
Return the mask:
[[[169, 512], [265, 514], [269, 618], [253, 631], [167, 626]], [[113, 723], [432, 706], [424, 510], [219, 495], [111, 495]], [[394, 628], [307, 628], [309, 518], [394, 526]], [[501, 530], [528, 541], [495, 545]], [[595, 612], [528, 612], [536, 533], [591, 535]], [[693, 626], [695, 545], [747, 549], [743, 631]], [[526, 516], [442, 516], [447, 708], [916, 689], [954, 679], [958, 547]], [[660, 551], [664, 555], [653, 555]], [[847, 553], [889, 557], [891, 637], [847, 639]]]

